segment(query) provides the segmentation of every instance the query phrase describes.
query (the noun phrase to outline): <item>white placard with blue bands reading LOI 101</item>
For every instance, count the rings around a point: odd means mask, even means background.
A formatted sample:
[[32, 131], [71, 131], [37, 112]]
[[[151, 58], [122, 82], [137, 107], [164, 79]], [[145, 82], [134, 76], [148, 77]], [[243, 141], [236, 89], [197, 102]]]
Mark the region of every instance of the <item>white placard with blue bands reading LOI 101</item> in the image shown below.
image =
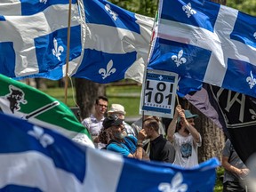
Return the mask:
[[172, 118], [178, 74], [148, 69], [144, 82], [140, 98], [140, 111], [143, 110], [144, 115], [148, 116]]

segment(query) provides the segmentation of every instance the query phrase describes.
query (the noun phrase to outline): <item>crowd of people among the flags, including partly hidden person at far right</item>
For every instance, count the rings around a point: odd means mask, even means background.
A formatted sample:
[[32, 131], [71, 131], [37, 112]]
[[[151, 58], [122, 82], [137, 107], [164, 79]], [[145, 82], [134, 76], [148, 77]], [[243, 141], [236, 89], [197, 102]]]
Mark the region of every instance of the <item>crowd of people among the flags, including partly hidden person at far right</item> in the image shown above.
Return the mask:
[[[202, 145], [194, 121], [198, 115], [177, 105], [171, 123], [165, 128], [157, 116], [142, 116], [131, 125], [127, 124], [125, 114], [124, 106], [120, 104], [112, 104], [108, 110], [107, 97], [100, 96], [95, 100], [94, 113], [82, 121], [92, 135], [95, 148], [184, 168], [198, 164], [197, 148]], [[230, 140], [223, 148], [221, 163], [225, 169], [223, 192], [248, 191], [241, 180], [249, 170], [237, 156]]]

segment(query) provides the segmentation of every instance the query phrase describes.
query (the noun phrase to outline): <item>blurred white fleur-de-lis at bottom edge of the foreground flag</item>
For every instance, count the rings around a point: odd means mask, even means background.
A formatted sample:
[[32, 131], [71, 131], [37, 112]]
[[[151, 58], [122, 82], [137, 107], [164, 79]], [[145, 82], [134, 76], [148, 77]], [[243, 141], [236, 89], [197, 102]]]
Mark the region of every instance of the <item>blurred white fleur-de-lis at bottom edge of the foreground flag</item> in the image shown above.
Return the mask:
[[181, 172], [177, 172], [172, 178], [171, 183], [160, 183], [158, 190], [163, 192], [185, 192], [188, 190], [187, 184], [182, 184], [183, 177]]

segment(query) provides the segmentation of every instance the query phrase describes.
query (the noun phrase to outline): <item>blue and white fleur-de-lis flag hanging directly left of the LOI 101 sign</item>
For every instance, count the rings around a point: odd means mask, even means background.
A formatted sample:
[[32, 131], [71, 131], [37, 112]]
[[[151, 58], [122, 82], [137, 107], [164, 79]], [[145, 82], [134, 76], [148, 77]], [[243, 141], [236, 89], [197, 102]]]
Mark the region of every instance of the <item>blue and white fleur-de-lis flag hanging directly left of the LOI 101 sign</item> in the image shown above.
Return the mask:
[[100, 84], [124, 78], [142, 83], [154, 20], [105, 0], [83, 2], [83, 60], [72, 76]]

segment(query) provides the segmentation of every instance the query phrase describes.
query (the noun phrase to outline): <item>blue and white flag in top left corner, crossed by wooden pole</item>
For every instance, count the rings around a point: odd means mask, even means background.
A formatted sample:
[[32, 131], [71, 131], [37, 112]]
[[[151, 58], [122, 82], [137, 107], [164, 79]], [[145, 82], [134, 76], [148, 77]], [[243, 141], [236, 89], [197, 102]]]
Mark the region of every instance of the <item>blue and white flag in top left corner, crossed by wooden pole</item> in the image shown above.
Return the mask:
[[[83, 43], [76, 2], [71, 5], [69, 71], [81, 59]], [[0, 74], [16, 79], [65, 76], [68, 5], [69, 0], [0, 2]]]

